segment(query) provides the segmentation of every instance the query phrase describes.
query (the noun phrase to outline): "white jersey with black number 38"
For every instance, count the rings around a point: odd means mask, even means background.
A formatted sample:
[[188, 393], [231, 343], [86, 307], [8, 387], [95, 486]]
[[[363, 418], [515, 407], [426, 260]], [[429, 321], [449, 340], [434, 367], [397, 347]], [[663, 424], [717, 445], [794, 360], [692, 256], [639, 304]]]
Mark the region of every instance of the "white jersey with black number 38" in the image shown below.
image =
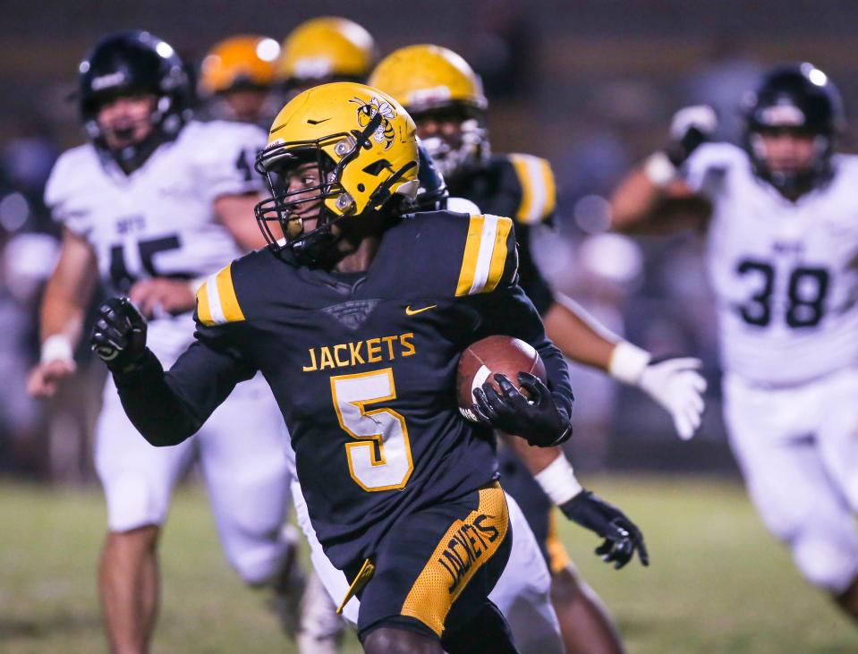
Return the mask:
[[713, 204], [709, 276], [724, 368], [773, 386], [858, 363], [858, 157], [834, 158], [828, 184], [790, 202], [746, 153], [705, 144], [687, 181]]

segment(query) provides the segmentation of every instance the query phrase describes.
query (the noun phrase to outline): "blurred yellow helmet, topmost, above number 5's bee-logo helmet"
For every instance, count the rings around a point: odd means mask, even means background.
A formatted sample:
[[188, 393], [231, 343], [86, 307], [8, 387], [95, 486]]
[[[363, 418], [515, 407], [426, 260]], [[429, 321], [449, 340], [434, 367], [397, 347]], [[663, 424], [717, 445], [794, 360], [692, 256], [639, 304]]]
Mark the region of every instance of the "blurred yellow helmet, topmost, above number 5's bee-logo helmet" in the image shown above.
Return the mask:
[[344, 18], [314, 18], [283, 42], [277, 78], [289, 87], [326, 81], [365, 81], [375, 43], [370, 32]]

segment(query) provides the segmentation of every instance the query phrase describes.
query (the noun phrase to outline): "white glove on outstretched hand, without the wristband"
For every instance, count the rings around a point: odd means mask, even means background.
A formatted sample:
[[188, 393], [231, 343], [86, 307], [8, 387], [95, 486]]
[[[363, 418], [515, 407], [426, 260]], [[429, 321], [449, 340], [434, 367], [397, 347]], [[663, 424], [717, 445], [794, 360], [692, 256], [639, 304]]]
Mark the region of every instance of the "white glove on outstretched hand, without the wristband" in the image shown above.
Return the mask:
[[688, 440], [701, 426], [706, 379], [697, 371], [702, 361], [694, 357], [650, 363], [638, 381], [641, 390], [661, 404], [674, 419], [679, 437]]

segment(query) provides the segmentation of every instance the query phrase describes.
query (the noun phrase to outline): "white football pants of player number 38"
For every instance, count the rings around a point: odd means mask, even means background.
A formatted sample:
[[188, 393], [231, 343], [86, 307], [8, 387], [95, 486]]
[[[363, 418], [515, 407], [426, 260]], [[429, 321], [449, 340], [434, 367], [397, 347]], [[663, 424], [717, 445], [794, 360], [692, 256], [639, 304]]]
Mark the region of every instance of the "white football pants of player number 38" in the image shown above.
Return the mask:
[[836, 594], [858, 574], [858, 370], [802, 386], [724, 378], [725, 419], [753, 504], [807, 580]]

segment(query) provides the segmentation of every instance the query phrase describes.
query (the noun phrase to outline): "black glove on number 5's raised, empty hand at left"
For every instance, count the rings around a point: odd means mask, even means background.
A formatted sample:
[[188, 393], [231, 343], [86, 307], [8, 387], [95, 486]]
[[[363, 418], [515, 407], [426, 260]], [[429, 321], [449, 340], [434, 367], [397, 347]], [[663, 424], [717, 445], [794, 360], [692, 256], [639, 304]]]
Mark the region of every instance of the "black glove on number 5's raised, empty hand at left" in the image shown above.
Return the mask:
[[98, 307], [89, 345], [112, 372], [129, 372], [146, 352], [146, 319], [127, 297], [110, 298]]

